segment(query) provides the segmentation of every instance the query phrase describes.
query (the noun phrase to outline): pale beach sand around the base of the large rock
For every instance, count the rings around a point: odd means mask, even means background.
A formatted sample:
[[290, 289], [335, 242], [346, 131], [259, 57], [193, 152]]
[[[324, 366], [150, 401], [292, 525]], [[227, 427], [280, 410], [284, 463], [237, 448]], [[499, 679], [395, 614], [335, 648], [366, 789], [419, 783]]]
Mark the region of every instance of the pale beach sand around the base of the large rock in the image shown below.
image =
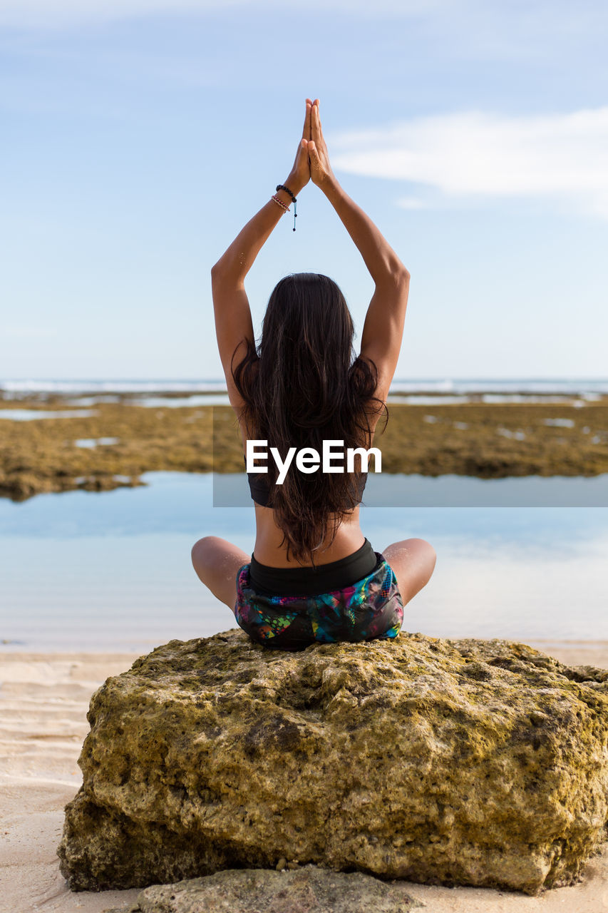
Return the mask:
[[[572, 665], [608, 667], [608, 641], [534, 642]], [[89, 724], [89, 698], [135, 654], [0, 653], [0, 913], [98, 913], [131, 903], [139, 889], [71, 893], [59, 873], [64, 805], [79, 789], [77, 764]], [[608, 911], [608, 845], [582, 881], [540, 897], [411, 885], [432, 913], [601, 913]]]

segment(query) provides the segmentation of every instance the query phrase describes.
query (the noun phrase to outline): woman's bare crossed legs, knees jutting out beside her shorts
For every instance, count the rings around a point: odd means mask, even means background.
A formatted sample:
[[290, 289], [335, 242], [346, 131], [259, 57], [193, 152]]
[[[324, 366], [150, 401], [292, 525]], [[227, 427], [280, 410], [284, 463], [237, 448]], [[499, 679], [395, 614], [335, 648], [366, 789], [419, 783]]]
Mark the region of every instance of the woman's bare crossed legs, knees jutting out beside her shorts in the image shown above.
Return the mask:
[[[404, 605], [429, 582], [435, 570], [435, 549], [425, 539], [404, 539], [383, 549]], [[236, 572], [251, 561], [251, 555], [219, 536], [204, 536], [194, 542], [192, 563], [199, 579], [229, 609], [236, 603]]]

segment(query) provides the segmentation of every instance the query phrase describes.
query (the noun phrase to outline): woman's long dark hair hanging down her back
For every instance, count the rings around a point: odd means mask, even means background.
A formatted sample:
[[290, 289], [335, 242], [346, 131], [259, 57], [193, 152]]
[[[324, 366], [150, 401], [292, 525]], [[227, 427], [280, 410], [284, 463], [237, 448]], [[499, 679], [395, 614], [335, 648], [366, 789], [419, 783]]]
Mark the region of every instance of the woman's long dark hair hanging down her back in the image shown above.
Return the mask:
[[[245, 401], [239, 415], [247, 438], [267, 440], [285, 459], [289, 447], [314, 447], [324, 439], [344, 447], [371, 446], [370, 412], [387, 412], [374, 395], [378, 371], [371, 359], [355, 357], [354, 326], [341, 289], [318, 273], [282, 278], [268, 300], [257, 347], [246, 341], [246, 356], [232, 368]], [[238, 348], [238, 346], [236, 347]], [[235, 350], [236, 353], [236, 350]], [[235, 353], [233, 353], [233, 360]], [[375, 401], [375, 407], [372, 403]], [[314, 564], [314, 552], [330, 542], [344, 516], [356, 507], [361, 468], [354, 474], [304, 474], [288, 469], [276, 485], [278, 468], [268, 456], [268, 505], [296, 561]]]

